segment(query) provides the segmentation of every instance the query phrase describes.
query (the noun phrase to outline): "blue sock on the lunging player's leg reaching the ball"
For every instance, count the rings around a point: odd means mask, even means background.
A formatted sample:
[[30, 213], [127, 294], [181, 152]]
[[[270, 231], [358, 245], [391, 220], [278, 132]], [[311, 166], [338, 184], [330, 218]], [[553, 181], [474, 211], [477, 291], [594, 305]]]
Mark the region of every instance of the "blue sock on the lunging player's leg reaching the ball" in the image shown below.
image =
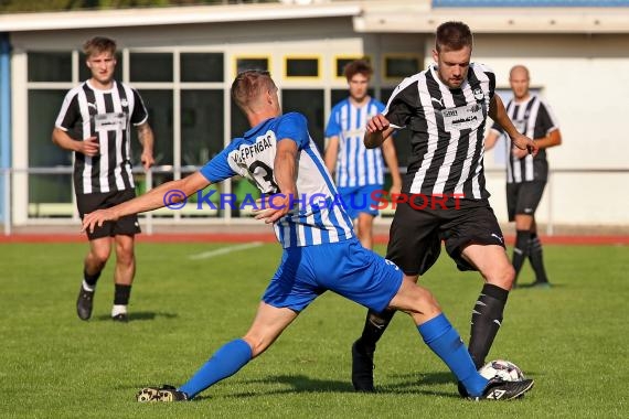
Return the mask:
[[448, 365], [470, 396], [480, 396], [488, 380], [473, 365], [461, 336], [444, 313], [417, 326], [424, 342]]

